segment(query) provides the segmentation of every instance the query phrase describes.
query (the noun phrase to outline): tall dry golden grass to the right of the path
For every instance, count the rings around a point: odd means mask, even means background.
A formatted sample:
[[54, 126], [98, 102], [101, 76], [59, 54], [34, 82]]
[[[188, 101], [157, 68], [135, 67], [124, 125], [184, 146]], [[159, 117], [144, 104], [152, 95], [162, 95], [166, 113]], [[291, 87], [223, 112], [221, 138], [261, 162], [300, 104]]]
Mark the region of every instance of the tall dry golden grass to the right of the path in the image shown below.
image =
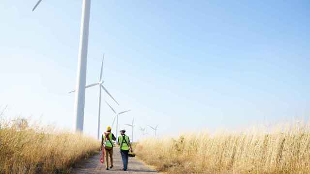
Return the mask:
[[138, 158], [169, 174], [310, 174], [307, 125], [145, 139]]

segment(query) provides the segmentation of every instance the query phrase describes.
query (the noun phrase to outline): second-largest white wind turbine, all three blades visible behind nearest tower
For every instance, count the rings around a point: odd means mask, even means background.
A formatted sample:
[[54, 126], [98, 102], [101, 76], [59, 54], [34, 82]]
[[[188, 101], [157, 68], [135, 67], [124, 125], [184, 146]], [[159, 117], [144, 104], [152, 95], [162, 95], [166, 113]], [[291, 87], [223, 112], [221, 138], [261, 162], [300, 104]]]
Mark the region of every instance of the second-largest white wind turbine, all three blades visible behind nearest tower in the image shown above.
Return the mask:
[[[99, 75], [99, 81], [97, 83], [91, 84], [91, 85], [87, 85], [85, 88], [88, 87], [94, 87], [94, 86], [99, 86], [99, 101], [98, 101], [98, 127], [97, 127], [97, 138], [99, 140], [99, 135], [100, 135], [100, 110], [101, 110], [101, 88], [103, 90], [106, 91], [106, 93], [113, 99], [114, 102], [116, 102], [116, 100], [112, 97], [112, 95], [109, 93], [109, 91], [102, 85], [104, 83], [104, 81], [102, 80], [102, 70], [103, 70], [103, 60], [105, 58], [105, 54], [103, 54], [102, 57], [102, 62], [101, 62], [101, 69], [100, 69], [100, 75]], [[70, 91], [71, 92], [75, 92], [76, 90]], [[118, 105], [119, 103], [116, 102]]]

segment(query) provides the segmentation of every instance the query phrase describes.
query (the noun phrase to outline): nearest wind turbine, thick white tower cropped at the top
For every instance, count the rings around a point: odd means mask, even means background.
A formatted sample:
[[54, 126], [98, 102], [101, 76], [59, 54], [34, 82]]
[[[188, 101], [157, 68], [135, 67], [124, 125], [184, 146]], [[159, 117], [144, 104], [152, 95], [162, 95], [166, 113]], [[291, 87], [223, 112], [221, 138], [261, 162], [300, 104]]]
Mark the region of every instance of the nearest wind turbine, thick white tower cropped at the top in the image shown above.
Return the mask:
[[[34, 5], [32, 12], [37, 8], [37, 6], [41, 1], [42, 0], [39, 0]], [[83, 131], [90, 12], [91, 12], [91, 0], [83, 0], [79, 48], [78, 48], [78, 74], [76, 82], [77, 92], [74, 102], [75, 131]]]

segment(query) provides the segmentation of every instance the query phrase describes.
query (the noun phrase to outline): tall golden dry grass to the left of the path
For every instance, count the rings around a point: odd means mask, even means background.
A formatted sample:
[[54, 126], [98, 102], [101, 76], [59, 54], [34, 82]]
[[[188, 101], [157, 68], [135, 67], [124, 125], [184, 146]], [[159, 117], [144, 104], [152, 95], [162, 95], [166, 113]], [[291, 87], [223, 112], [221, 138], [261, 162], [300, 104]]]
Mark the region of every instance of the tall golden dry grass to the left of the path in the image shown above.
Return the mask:
[[0, 123], [0, 174], [69, 173], [100, 147], [81, 133], [28, 126], [21, 119]]

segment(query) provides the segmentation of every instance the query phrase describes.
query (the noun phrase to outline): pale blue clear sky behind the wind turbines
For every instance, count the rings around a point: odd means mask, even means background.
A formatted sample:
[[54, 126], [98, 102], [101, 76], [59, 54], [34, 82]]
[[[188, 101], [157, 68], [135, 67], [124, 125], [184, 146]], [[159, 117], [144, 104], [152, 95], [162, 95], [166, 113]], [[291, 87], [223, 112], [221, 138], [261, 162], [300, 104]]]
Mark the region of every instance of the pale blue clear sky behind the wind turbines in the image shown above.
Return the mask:
[[[73, 129], [82, 0], [0, 2], [0, 106], [5, 115]], [[157, 134], [237, 130], [310, 115], [310, 2], [92, 0], [87, 84]], [[96, 136], [98, 88], [86, 90], [84, 132]], [[102, 102], [101, 130], [113, 112]], [[148, 127], [149, 136], [153, 131]]]

